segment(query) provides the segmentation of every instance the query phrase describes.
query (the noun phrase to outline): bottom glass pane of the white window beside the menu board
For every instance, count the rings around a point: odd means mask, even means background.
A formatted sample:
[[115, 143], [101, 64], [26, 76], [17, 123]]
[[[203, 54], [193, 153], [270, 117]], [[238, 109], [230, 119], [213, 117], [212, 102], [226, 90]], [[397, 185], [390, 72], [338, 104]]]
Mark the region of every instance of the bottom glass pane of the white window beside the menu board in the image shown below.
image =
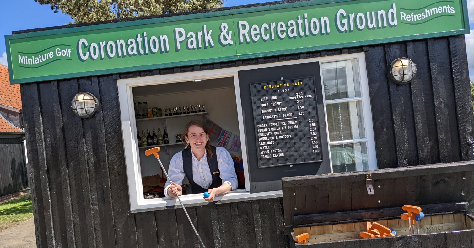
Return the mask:
[[333, 172], [366, 171], [369, 169], [365, 142], [331, 145]]

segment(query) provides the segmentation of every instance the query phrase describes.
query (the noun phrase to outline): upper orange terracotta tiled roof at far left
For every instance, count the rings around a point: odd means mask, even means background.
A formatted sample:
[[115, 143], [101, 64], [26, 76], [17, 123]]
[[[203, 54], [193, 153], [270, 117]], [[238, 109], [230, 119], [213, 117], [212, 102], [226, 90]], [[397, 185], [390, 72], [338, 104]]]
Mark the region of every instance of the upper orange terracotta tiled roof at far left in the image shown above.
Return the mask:
[[22, 109], [20, 85], [10, 85], [8, 67], [0, 64], [0, 103]]

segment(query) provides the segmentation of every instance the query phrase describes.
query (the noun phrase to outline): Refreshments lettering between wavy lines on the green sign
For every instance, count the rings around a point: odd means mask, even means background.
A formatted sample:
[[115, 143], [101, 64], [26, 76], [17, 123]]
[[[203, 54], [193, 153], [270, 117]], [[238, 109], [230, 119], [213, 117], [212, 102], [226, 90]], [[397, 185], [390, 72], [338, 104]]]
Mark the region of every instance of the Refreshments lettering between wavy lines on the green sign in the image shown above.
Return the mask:
[[438, 1], [429, 4], [419, 9], [404, 9], [405, 12], [400, 11], [401, 23], [408, 25], [420, 25], [427, 23], [439, 17], [455, 17], [456, 9], [449, 4], [453, 4], [454, 1]]

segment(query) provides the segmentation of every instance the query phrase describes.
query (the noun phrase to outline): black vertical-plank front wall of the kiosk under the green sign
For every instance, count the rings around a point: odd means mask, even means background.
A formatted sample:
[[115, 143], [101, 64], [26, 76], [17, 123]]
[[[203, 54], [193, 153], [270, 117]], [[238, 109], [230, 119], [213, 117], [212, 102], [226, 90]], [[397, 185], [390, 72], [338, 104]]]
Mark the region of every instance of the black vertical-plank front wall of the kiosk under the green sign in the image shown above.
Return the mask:
[[[467, 143], [473, 137], [473, 113], [463, 35], [24, 84], [21, 92], [38, 247], [197, 246], [194, 238], [188, 240], [194, 234], [181, 210], [129, 211], [118, 78], [354, 52], [366, 55], [379, 168], [473, 159]], [[419, 75], [409, 85], [388, 82], [387, 66], [399, 57], [409, 57], [418, 65]], [[71, 110], [70, 101], [81, 91], [100, 101], [93, 118], [80, 119]], [[281, 199], [258, 200], [196, 207], [191, 214], [196, 213], [207, 244], [286, 246], [278, 206]], [[217, 219], [211, 218], [210, 213], [216, 212]], [[233, 229], [227, 230], [224, 223], [231, 223]], [[163, 228], [167, 225], [179, 235]]]

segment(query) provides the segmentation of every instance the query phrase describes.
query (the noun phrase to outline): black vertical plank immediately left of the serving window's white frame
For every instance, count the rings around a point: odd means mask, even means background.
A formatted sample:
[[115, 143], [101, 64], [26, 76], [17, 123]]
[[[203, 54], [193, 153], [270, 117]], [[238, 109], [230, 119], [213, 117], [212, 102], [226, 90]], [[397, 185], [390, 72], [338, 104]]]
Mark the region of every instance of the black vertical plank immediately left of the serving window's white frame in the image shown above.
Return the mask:
[[[122, 140], [117, 80], [111, 76], [99, 77], [100, 105], [104, 113], [104, 137], [110, 185], [113, 185], [112, 208], [116, 245], [136, 247], [137, 238], [133, 215], [130, 214], [127, 173]], [[72, 99], [72, 98], [71, 98]]]

